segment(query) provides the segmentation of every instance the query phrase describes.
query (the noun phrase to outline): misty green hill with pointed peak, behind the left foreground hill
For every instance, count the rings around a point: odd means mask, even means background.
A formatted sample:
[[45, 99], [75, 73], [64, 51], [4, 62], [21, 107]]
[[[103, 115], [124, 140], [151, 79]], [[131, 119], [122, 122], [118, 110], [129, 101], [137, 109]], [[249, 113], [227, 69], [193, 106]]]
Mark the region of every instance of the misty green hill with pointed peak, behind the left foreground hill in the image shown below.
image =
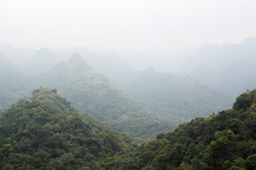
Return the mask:
[[[58, 89], [75, 108], [110, 126], [139, 137], [155, 137], [174, 128], [174, 123], [146, 113], [142, 106], [98, 74], [78, 53], [36, 79], [36, 86]], [[33, 82], [35, 84], [35, 82]]]

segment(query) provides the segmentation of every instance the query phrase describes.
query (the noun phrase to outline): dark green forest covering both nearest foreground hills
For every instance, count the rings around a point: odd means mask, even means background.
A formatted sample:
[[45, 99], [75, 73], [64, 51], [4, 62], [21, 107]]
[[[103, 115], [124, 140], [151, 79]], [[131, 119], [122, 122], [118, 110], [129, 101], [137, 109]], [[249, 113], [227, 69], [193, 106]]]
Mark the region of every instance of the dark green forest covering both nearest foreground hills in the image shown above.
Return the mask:
[[1, 169], [256, 169], [256, 90], [141, 144], [36, 89], [0, 116]]

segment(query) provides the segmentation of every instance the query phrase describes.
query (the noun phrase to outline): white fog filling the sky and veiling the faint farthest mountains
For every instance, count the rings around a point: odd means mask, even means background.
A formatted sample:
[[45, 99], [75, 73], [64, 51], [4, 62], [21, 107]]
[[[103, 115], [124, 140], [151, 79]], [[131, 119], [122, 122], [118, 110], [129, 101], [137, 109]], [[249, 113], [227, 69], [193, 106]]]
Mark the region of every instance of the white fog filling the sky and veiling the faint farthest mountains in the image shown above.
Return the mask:
[[151, 65], [221, 91], [230, 91], [220, 82], [233, 77], [233, 84], [243, 79], [231, 91], [238, 94], [255, 88], [247, 64], [256, 54], [255, 7], [250, 0], [1, 0], [0, 53], [41, 74], [79, 52], [117, 85]]

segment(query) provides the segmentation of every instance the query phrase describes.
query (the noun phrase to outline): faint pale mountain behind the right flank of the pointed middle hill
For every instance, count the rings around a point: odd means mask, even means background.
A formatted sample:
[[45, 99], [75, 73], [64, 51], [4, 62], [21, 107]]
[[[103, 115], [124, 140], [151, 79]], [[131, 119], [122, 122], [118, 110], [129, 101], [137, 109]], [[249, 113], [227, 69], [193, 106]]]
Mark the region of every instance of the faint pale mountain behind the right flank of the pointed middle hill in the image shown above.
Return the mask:
[[53, 49], [53, 52], [64, 60], [78, 52], [97, 72], [105, 74], [115, 86], [123, 87], [139, 74], [132, 64], [122, 59], [115, 50], [99, 53], [86, 47], [58, 47]]

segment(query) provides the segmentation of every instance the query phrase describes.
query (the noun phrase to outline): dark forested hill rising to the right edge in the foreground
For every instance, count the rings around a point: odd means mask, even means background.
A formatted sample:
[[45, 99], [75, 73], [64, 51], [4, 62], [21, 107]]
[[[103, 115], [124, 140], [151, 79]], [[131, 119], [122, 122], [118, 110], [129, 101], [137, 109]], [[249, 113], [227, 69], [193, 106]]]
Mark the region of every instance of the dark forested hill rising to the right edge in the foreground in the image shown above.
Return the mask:
[[256, 169], [256, 90], [233, 109], [196, 118], [144, 143], [127, 169]]

